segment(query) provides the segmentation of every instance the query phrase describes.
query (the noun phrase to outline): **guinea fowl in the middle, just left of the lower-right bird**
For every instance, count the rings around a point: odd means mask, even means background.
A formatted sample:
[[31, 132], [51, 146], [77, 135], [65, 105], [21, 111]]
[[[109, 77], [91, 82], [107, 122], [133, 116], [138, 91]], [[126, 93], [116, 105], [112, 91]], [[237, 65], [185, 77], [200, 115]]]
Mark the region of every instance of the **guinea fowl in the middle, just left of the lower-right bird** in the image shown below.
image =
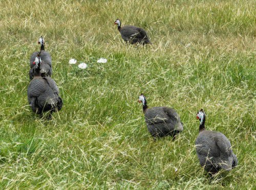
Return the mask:
[[147, 129], [154, 138], [167, 135], [175, 137], [175, 134], [183, 130], [180, 117], [173, 108], [166, 106], [148, 108], [143, 94], [139, 96], [138, 101], [143, 105]]

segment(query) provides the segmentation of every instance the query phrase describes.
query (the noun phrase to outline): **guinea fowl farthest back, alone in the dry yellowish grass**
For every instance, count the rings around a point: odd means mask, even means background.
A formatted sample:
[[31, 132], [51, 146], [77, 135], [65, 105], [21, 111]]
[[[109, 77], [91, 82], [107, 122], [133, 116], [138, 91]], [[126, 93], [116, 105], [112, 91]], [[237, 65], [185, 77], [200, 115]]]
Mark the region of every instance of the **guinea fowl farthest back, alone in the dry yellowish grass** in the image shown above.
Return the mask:
[[129, 42], [131, 44], [141, 43], [143, 45], [148, 43], [151, 44], [151, 41], [144, 29], [133, 25], [124, 25], [121, 27], [119, 19], [115, 21], [115, 24], [117, 24], [117, 29], [125, 42]]

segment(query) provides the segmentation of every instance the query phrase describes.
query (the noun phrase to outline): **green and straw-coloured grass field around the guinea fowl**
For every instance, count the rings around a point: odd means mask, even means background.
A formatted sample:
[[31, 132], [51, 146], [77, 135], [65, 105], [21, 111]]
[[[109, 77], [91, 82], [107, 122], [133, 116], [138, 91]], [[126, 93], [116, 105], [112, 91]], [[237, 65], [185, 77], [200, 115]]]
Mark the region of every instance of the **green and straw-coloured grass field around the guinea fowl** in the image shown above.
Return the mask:
[[[153, 45], [125, 44], [116, 18], [143, 27]], [[0, 27], [1, 188], [255, 188], [254, 1], [0, 0]], [[41, 35], [63, 99], [51, 121], [27, 100]], [[175, 141], [153, 141], [140, 93], [177, 110]], [[239, 159], [214, 179], [195, 151], [200, 108]]]

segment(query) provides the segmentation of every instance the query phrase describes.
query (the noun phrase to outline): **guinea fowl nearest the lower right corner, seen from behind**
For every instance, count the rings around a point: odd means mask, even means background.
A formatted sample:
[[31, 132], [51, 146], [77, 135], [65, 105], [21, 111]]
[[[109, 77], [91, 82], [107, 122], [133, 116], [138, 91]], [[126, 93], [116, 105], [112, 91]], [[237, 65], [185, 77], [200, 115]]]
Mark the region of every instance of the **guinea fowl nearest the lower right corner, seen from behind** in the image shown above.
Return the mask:
[[229, 140], [218, 131], [205, 130], [205, 113], [201, 109], [197, 113], [200, 120], [199, 134], [196, 139], [196, 151], [200, 165], [206, 172], [215, 174], [219, 170], [231, 170], [238, 164], [237, 156], [233, 153]]

